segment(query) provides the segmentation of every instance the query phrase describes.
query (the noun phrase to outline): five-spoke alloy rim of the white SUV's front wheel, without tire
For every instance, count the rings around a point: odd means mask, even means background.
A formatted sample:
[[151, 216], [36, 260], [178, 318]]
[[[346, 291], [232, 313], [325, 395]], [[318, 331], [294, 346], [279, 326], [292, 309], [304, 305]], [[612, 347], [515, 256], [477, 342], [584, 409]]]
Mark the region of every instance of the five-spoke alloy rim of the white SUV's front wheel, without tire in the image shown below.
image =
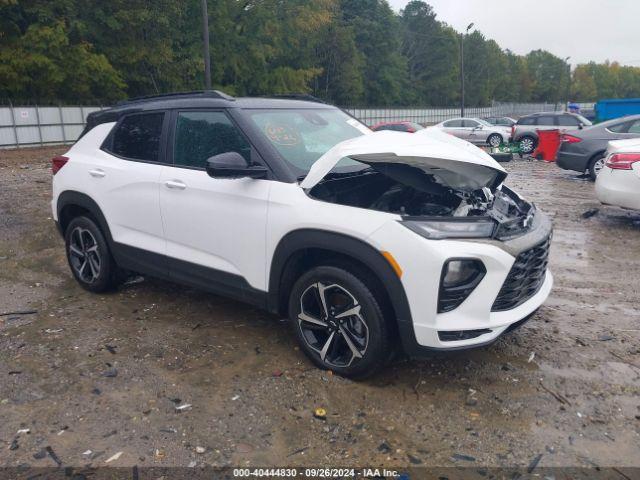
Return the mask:
[[348, 367], [364, 356], [369, 343], [369, 327], [361, 311], [357, 299], [344, 287], [317, 282], [300, 297], [298, 328], [322, 362]]

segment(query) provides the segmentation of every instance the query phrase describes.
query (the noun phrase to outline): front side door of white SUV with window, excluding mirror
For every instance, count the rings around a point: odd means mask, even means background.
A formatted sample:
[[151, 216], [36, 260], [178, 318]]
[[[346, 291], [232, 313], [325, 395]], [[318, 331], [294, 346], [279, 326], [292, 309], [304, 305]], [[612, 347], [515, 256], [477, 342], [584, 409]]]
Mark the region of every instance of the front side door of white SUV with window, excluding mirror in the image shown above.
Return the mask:
[[211, 178], [208, 158], [238, 152], [263, 163], [224, 110], [175, 111], [173, 164], [162, 169], [160, 204], [170, 276], [251, 301], [266, 290], [265, 234], [270, 180]]

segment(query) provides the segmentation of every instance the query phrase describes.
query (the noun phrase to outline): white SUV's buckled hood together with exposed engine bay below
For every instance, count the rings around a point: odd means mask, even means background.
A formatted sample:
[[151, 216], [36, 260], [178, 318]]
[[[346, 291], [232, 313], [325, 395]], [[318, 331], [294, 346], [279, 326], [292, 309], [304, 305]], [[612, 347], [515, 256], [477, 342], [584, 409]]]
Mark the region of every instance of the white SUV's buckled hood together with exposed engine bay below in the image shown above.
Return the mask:
[[426, 129], [343, 142], [318, 160], [301, 186], [318, 200], [400, 215], [430, 239], [508, 240], [528, 231], [536, 208], [502, 185], [506, 176], [482, 150]]

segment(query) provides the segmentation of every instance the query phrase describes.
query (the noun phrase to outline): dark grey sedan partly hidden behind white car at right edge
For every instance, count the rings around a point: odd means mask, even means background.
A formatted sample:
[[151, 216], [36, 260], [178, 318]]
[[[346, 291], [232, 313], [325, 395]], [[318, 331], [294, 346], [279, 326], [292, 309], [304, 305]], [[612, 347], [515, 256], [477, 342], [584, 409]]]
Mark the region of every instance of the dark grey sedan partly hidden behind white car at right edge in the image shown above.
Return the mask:
[[556, 164], [565, 170], [588, 172], [592, 180], [604, 167], [607, 145], [612, 140], [640, 137], [640, 115], [616, 118], [561, 137]]

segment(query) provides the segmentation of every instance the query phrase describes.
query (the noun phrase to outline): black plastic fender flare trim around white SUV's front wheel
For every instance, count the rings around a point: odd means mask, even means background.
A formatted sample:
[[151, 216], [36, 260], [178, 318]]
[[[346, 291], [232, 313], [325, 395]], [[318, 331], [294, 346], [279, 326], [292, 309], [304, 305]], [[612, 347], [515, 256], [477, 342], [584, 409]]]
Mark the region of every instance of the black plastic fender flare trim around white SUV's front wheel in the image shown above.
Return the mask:
[[271, 260], [267, 300], [269, 310], [278, 311], [281, 281], [288, 261], [296, 253], [314, 248], [346, 255], [373, 271], [391, 301], [406, 353], [411, 354], [420, 349], [402, 282], [382, 253], [367, 242], [349, 235], [317, 229], [300, 229], [287, 233], [278, 243]]

